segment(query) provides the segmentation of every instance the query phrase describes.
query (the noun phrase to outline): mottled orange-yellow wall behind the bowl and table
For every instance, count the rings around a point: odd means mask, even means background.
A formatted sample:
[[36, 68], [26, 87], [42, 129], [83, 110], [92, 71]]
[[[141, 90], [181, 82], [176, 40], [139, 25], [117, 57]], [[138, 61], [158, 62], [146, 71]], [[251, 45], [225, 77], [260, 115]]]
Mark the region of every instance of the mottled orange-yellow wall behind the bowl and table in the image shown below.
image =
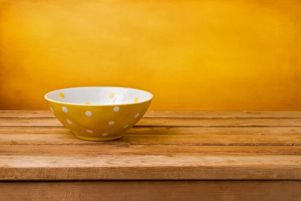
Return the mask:
[[150, 110], [301, 110], [301, 1], [0, 1], [0, 109], [74, 86]]

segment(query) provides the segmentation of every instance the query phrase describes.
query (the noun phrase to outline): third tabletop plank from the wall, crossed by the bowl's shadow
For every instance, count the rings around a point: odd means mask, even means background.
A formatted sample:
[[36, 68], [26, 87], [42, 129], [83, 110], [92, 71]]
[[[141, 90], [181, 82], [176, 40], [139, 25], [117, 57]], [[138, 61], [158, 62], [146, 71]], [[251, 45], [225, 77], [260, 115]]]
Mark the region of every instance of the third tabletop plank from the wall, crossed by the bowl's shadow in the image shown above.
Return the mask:
[[[0, 127], [0, 134], [73, 135], [65, 127]], [[133, 127], [125, 135], [301, 135], [301, 127]]]

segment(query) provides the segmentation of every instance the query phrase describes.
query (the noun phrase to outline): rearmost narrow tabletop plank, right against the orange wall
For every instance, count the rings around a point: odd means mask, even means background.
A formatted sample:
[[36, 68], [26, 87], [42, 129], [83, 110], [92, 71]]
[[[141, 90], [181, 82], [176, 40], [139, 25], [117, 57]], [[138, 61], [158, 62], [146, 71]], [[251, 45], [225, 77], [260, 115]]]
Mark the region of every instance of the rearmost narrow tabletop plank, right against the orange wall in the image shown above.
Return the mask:
[[[0, 118], [53, 118], [50, 111], [0, 110]], [[144, 118], [301, 118], [300, 111], [147, 111]]]

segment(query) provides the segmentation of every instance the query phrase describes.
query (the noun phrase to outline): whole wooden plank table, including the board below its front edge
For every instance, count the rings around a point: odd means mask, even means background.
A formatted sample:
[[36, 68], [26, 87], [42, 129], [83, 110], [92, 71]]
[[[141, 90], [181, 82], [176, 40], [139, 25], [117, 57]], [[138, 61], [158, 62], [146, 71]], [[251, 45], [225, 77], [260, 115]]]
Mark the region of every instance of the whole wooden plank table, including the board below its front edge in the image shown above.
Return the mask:
[[301, 112], [149, 111], [115, 141], [0, 111], [0, 200], [301, 200]]

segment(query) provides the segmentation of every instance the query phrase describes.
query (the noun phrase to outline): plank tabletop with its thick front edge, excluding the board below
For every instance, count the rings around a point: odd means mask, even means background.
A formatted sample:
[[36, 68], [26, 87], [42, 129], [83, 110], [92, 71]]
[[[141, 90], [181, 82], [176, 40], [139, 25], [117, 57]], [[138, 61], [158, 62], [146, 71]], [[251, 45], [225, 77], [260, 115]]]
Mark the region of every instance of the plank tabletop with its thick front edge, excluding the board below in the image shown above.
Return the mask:
[[157, 112], [92, 142], [37, 113], [0, 117], [1, 180], [301, 180], [300, 118]]

